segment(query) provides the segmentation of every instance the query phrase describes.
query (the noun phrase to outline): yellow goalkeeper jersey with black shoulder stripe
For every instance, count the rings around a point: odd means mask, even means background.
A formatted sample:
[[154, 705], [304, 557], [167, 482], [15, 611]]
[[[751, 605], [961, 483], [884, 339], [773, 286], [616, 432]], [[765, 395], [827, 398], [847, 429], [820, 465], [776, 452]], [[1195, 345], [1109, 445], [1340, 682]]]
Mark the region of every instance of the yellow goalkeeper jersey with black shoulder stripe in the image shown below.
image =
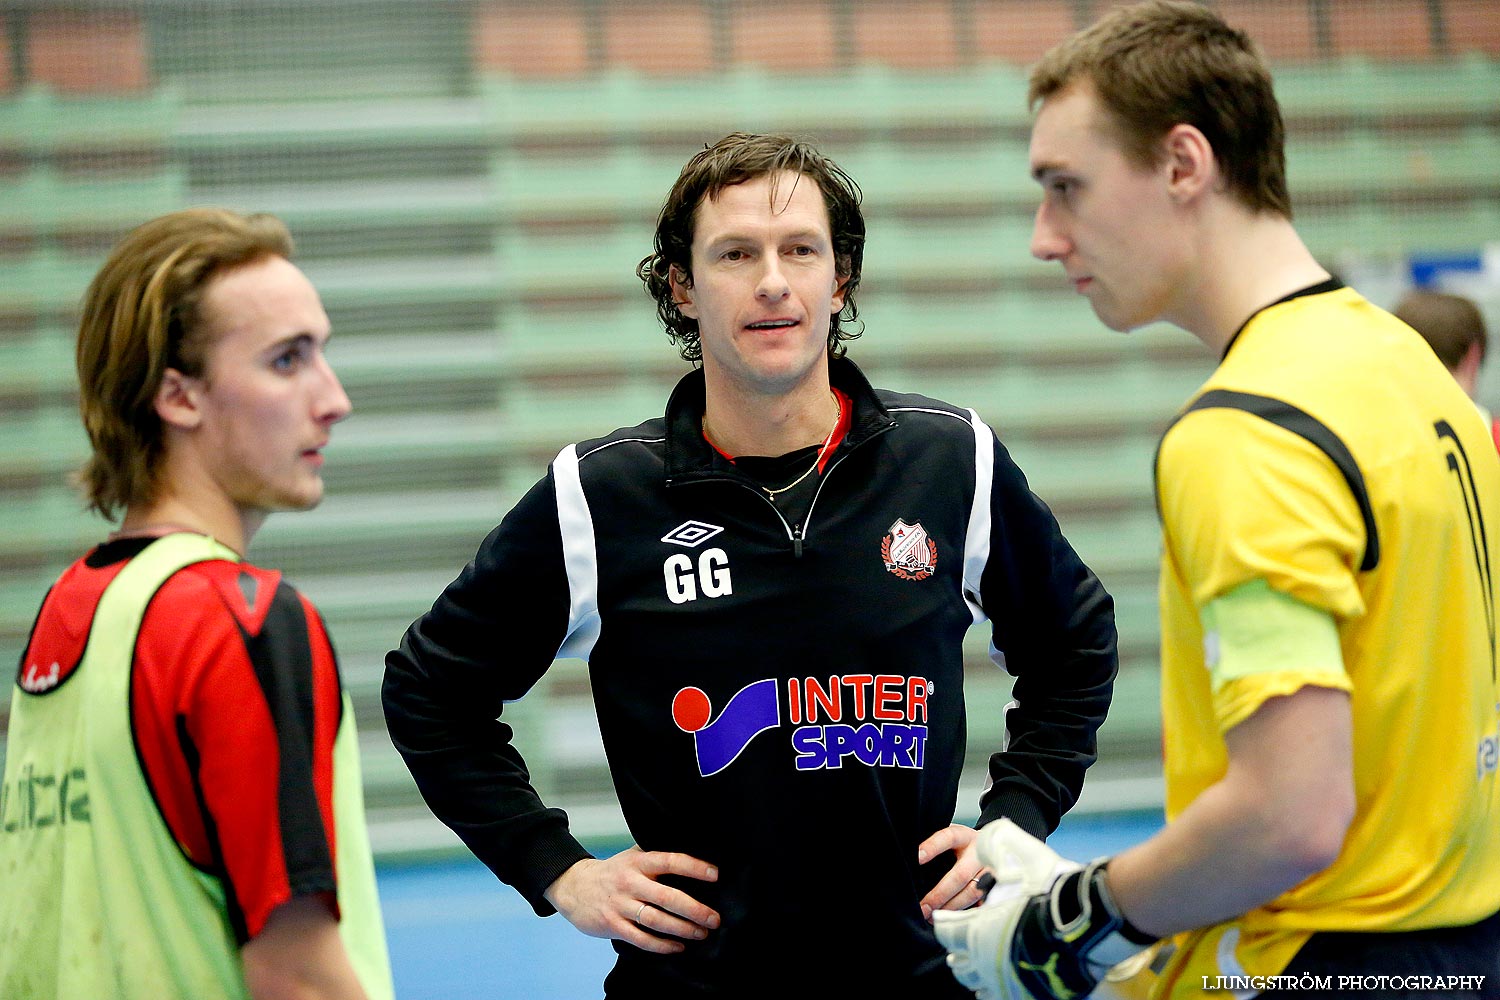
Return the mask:
[[[1500, 459], [1426, 342], [1336, 282], [1263, 309], [1164, 435], [1156, 496], [1168, 822], [1224, 775], [1230, 727], [1310, 684], [1350, 693], [1356, 786], [1338, 859], [1179, 937], [1156, 991], [1276, 975], [1320, 930], [1500, 909]], [[1200, 612], [1257, 580], [1334, 616], [1344, 675], [1214, 690]]]

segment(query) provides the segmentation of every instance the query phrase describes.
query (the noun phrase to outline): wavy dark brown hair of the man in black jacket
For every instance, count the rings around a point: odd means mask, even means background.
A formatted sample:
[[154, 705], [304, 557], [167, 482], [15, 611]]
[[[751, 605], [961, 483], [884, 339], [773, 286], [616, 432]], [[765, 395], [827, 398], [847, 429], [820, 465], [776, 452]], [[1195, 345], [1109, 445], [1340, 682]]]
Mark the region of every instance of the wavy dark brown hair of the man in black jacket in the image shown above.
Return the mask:
[[698, 207], [705, 198], [714, 198], [726, 187], [783, 171], [814, 181], [828, 210], [834, 270], [843, 283], [843, 309], [834, 313], [828, 324], [828, 352], [834, 357], [842, 355], [844, 351], [842, 342], [860, 336], [858, 328], [850, 328], [860, 316], [854, 292], [864, 265], [860, 186], [843, 168], [802, 139], [732, 132], [705, 147], [682, 166], [657, 216], [654, 250], [636, 267], [636, 274], [645, 283], [646, 294], [656, 300], [657, 316], [666, 327], [668, 337], [678, 345], [682, 360], [693, 363], [704, 360], [704, 348], [698, 340], [698, 321], [682, 315], [672, 294], [674, 270], [682, 285], [693, 286], [693, 226], [698, 220]]

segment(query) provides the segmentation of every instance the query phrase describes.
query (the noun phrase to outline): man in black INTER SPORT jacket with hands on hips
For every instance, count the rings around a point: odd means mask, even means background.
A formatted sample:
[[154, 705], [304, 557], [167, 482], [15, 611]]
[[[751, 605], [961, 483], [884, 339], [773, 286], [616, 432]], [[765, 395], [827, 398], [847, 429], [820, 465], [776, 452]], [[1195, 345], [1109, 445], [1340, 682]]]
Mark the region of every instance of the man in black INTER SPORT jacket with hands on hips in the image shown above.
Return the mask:
[[[974, 624], [1016, 676], [980, 825], [1046, 837], [1095, 759], [1113, 601], [974, 411], [842, 357], [858, 199], [792, 139], [694, 156], [640, 276], [698, 370], [564, 448], [387, 658], [428, 804], [538, 915], [614, 939], [609, 997], [969, 996], [930, 916], [981, 898], [952, 823]], [[636, 843], [612, 858], [496, 721], [558, 657], [590, 664]]]

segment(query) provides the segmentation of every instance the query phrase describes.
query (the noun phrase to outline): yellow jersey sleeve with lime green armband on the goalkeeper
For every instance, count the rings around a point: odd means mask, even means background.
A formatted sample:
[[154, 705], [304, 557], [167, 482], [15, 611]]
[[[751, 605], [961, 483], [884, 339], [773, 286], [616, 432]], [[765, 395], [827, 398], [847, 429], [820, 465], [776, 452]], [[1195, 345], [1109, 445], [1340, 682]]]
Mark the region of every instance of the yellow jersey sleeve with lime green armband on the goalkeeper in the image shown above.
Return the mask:
[[1334, 622], [1365, 610], [1365, 522], [1328, 453], [1242, 409], [1196, 409], [1162, 439], [1156, 477], [1167, 558], [1203, 624], [1221, 732], [1305, 685], [1348, 690]]

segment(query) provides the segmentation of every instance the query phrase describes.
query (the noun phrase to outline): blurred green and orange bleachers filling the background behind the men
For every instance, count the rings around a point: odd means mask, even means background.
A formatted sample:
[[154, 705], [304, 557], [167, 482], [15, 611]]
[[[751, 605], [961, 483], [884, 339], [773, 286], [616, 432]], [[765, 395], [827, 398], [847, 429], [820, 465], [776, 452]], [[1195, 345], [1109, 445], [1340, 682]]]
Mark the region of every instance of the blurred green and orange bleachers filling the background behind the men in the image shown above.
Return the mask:
[[[1118, 598], [1118, 700], [1080, 808], [1160, 805], [1150, 462], [1215, 358], [1180, 331], [1104, 330], [1028, 253], [1026, 66], [1106, 6], [0, 0], [0, 670], [48, 583], [108, 531], [66, 481], [93, 270], [166, 210], [278, 213], [333, 318], [354, 417], [326, 502], [273, 517], [250, 558], [328, 619], [376, 850], [456, 846], [386, 736], [384, 652], [562, 445], [662, 411], [687, 366], [633, 276], [660, 199], [705, 142], [784, 130], [866, 192], [850, 357], [876, 384], [975, 406]], [[1312, 250], [1382, 304], [1414, 282], [1473, 294], [1494, 330], [1500, 4], [1212, 6], [1274, 64]], [[987, 631], [970, 640], [962, 817], [1010, 690]], [[580, 835], [621, 835], [585, 667], [556, 664], [507, 720]]]

